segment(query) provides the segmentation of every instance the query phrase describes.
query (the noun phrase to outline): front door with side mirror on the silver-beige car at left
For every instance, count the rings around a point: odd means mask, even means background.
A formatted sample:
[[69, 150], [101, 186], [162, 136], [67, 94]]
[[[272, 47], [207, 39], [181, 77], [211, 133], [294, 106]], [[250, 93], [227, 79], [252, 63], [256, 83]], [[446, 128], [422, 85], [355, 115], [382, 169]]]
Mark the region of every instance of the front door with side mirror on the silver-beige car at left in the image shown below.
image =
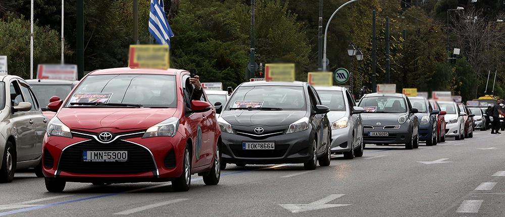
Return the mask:
[[17, 161], [25, 161], [33, 159], [32, 155], [36, 148], [34, 122], [30, 120], [31, 111], [14, 112], [13, 107], [20, 102], [24, 102], [23, 94], [17, 79], [12, 79], [9, 84], [10, 106], [13, 130], [12, 134], [16, 140], [16, 155]]

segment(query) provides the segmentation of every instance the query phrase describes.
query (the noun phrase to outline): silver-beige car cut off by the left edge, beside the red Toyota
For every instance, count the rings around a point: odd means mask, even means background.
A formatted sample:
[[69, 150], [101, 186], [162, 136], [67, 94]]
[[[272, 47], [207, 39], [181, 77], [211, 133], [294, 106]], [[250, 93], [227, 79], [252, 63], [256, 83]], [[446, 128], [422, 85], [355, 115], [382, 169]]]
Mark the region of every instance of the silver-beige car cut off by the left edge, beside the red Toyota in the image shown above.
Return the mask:
[[0, 182], [12, 182], [17, 169], [42, 174], [42, 140], [48, 119], [25, 80], [0, 76]]

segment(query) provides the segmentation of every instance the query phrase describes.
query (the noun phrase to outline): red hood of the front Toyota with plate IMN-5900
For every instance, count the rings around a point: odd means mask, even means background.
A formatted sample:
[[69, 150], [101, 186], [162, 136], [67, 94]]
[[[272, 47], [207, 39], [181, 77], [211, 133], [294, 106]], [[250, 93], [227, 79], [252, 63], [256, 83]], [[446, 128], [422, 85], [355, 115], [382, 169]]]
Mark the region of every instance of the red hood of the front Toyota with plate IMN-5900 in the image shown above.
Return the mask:
[[174, 115], [177, 108], [62, 108], [58, 118], [70, 129], [146, 129]]

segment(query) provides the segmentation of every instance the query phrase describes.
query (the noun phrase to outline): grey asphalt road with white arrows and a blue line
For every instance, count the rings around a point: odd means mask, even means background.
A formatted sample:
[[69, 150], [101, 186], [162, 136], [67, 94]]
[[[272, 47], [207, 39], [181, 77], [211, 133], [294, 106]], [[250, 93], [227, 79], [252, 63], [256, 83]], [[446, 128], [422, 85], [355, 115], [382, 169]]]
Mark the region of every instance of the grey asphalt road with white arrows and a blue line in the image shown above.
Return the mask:
[[172, 192], [170, 183], [67, 183], [56, 194], [18, 173], [0, 185], [0, 215], [503, 216], [504, 139], [486, 131], [414, 150], [367, 145], [363, 157], [336, 155], [315, 171], [228, 165], [219, 185], [193, 176], [189, 192]]

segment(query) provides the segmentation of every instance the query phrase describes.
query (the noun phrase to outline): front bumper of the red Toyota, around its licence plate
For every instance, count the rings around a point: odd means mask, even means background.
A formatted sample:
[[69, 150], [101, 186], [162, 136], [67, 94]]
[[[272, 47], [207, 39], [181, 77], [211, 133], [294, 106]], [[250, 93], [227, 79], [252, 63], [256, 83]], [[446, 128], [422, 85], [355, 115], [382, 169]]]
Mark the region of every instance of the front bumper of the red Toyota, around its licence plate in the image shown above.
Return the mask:
[[[168, 139], [169, 138], [169, 139]], [[45, 177], [72, 182], [158, 182], [179, 177], [186, 140], [174, 137], [118, 139], [102, 144], [92, 138], [44, 137], [42, 165]], [[84, 150], [126, 150], [126, 162], [84, 162]]]

